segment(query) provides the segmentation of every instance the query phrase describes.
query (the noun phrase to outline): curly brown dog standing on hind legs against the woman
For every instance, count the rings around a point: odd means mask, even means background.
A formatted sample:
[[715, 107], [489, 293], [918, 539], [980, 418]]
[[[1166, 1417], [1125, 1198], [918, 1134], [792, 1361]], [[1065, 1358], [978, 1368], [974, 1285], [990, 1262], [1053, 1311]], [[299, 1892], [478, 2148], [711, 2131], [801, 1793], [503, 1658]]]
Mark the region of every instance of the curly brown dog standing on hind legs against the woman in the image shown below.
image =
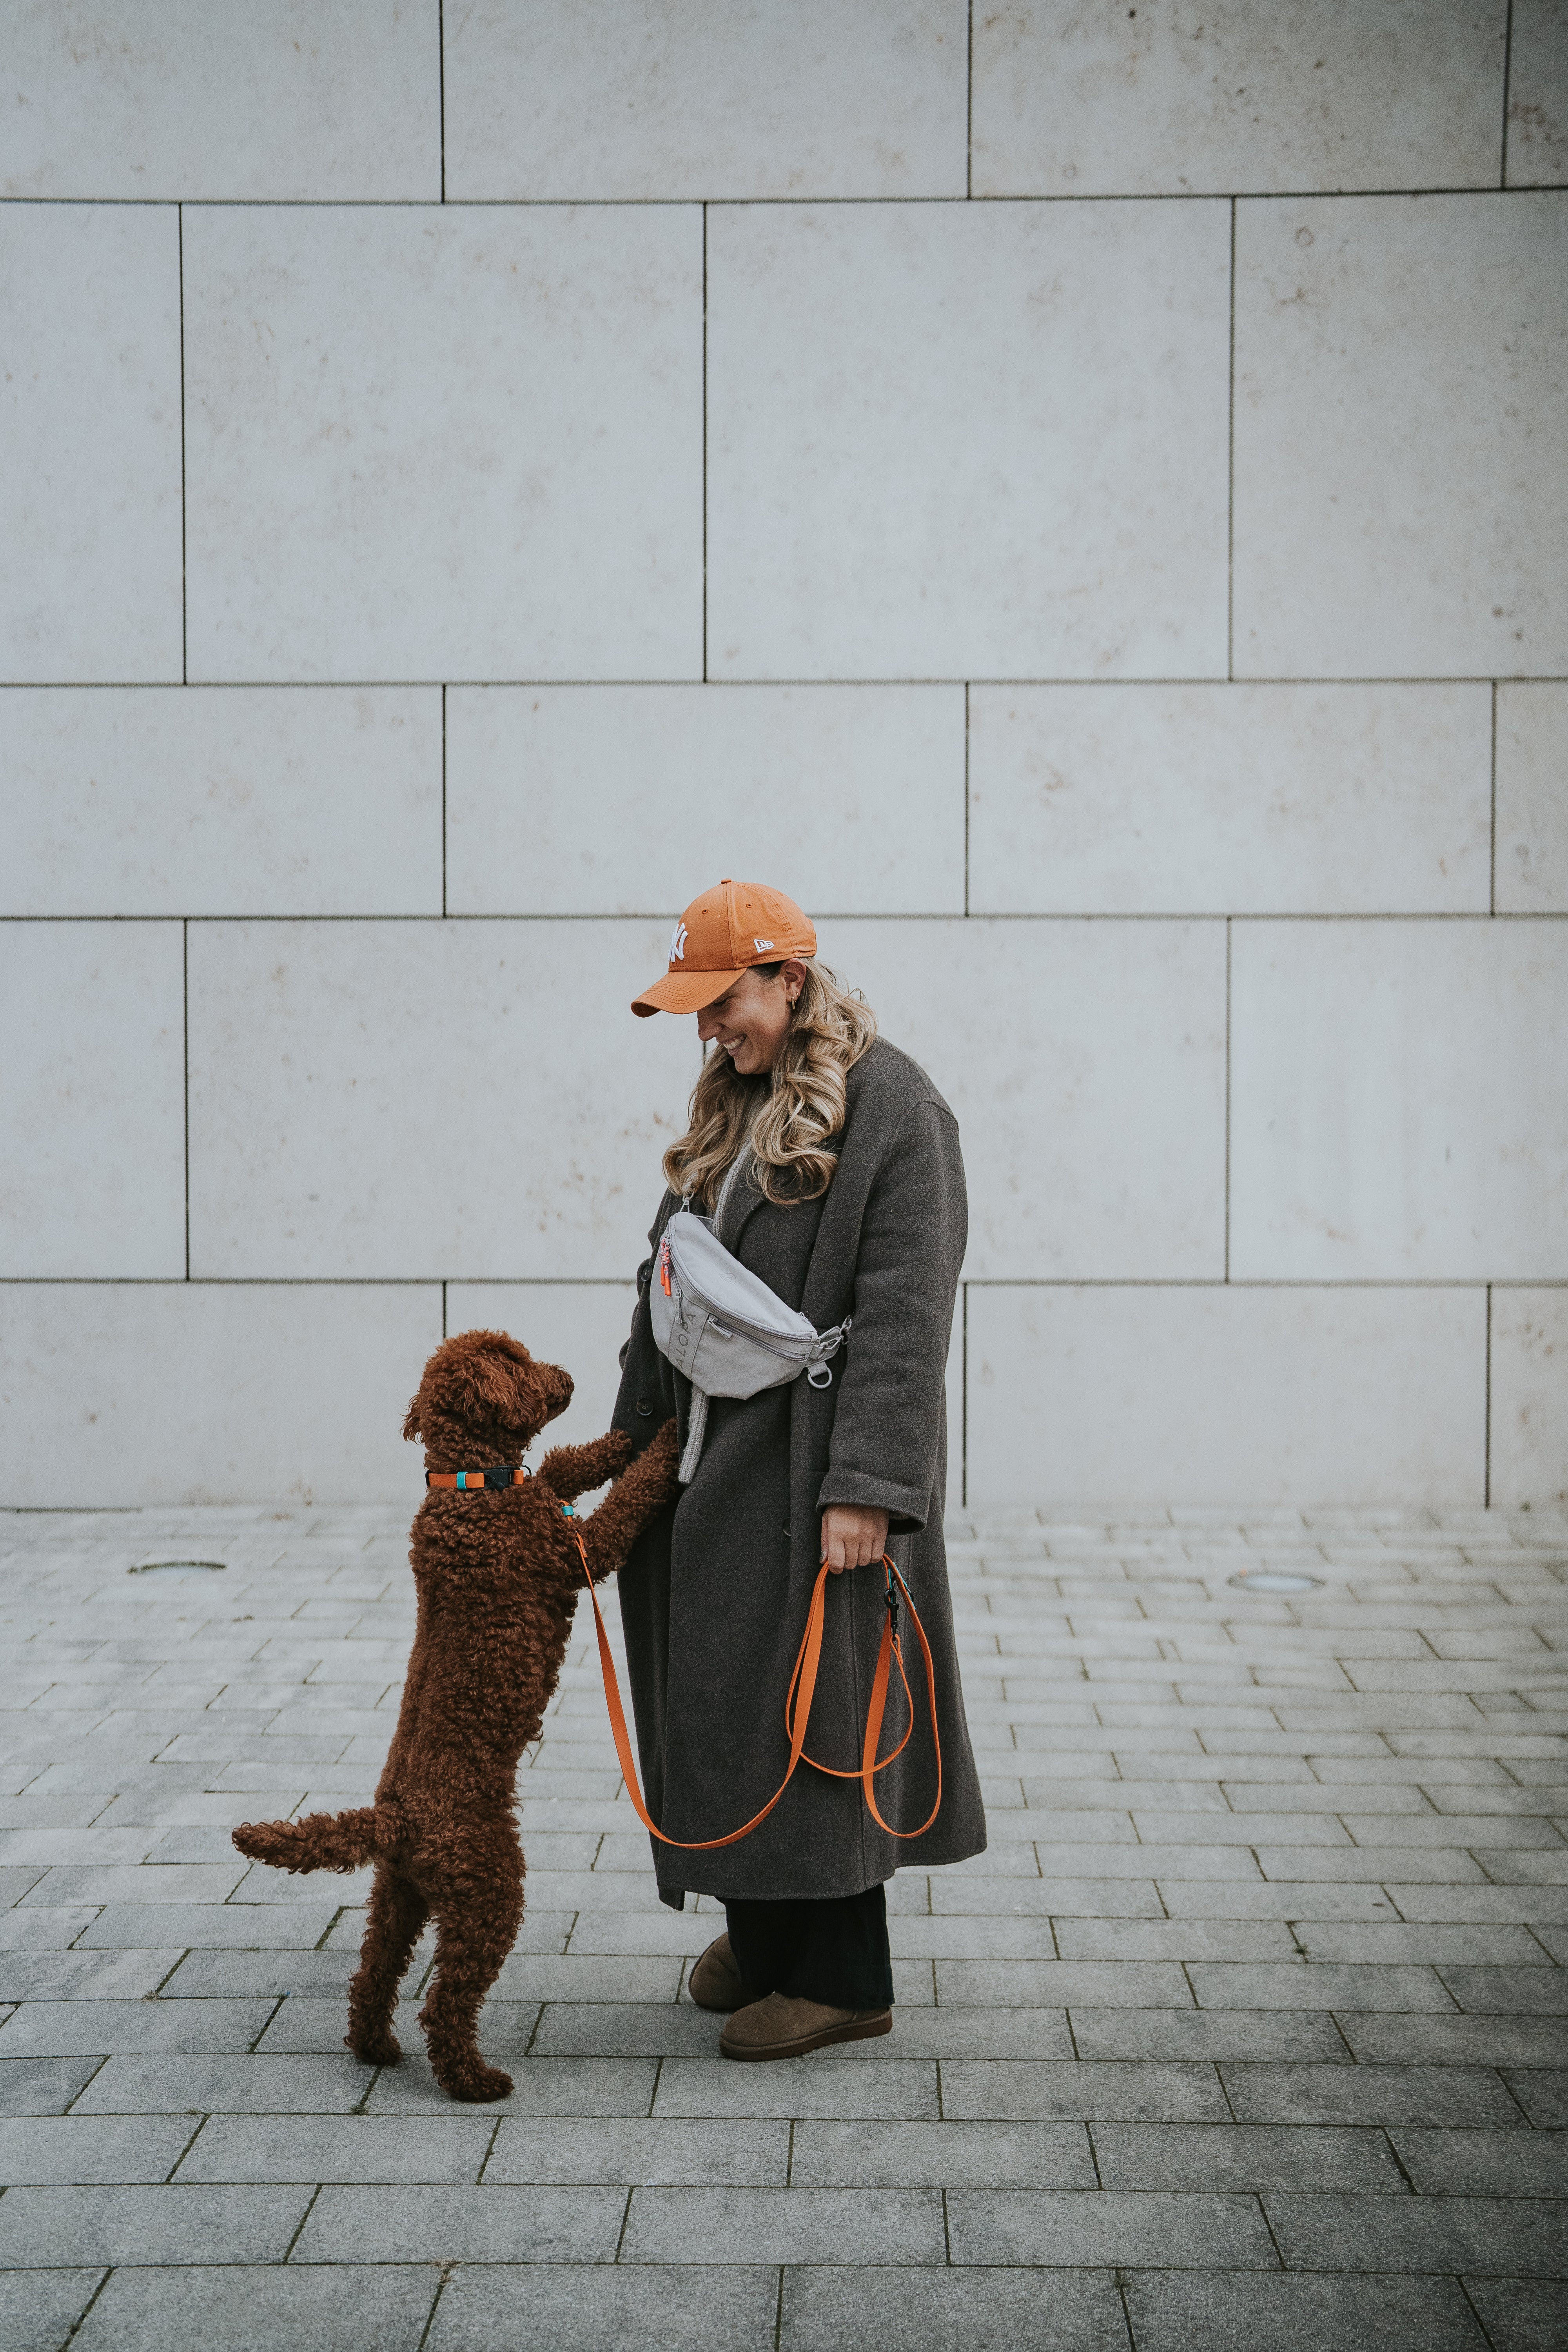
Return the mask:
[[487, 1479], [480, 1491], [430, 1486], [414, 1515], [418, 1625], [376, 1802], [235, 1830], [240, 1853], [277, 1870], [376, 1865], [343, 2037], [369, 2065], [402, 2056], [397, 1985], [435, 1919], [435, 1978], [418, 2023], [435, 2079], [463, 2100], [512, 2089], [480, 2056], [477, 2023], [522, 1924], [517, 1759], [543, 1729], [583, 1590], [562, 1503], [614, 1477], [576, 1522], [599, 1583], [677, 1496], [672, 1421], [635, 1463], [632, 1439], [611, 1430], [588, 1446], [555, 1446], [522, 1479], [527, 1444], [569, 1402], [571, 1376], [536, 1364], [505, 1331], [463, 1331], [435, 1350], [402, 1435], [423, 1439], [428, 1477]]

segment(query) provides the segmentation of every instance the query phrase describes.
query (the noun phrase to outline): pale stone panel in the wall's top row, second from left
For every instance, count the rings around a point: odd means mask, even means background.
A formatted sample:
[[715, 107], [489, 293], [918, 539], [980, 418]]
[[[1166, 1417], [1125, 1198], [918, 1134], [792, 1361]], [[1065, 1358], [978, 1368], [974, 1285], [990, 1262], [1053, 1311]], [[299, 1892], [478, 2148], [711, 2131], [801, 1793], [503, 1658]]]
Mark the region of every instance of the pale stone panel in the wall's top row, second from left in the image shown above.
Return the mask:
[[447, 14], [447, 195], [964, 195], [964, 0], [480, 0]]

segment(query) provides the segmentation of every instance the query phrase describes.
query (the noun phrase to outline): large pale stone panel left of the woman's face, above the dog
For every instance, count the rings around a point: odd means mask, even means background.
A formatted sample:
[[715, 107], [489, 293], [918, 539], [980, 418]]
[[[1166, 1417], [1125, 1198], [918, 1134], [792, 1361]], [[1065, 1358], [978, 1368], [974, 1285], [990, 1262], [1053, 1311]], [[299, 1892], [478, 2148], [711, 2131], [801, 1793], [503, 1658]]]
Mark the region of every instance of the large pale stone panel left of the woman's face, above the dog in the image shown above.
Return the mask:
[[190, 927], [207, 1277], [625, 1279], [691, 1021], [635, 1021], [649, 922]]

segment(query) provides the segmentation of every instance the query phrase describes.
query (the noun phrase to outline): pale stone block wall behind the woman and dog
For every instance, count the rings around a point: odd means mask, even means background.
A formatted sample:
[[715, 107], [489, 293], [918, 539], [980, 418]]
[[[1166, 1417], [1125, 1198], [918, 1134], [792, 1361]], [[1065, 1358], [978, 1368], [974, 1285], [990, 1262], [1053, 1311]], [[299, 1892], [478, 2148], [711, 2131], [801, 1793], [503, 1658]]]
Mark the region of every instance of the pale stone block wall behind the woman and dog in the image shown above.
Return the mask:
[[1563, 1494], [1561, 0], [5, 47], [5, 1501], [602, 1425], [722, 873], [961, 1117], [954, 1498]]

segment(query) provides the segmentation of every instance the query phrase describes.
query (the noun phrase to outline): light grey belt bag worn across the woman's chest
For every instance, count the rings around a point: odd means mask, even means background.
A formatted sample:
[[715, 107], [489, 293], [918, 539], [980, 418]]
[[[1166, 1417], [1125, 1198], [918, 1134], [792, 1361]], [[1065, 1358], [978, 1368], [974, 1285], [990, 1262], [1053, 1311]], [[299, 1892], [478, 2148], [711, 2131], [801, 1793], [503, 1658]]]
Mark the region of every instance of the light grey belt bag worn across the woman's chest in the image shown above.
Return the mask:
[[677, 1209], [663, 1230], [649, 1284], [654, 1345], [705, 1397], [755, 1397], [802, 1371], [827, 1388], [827, 1357], [851, 1317], [830, 1331], [788, 1308], [778, 1291], [724, 1249], [705, 1216]]

